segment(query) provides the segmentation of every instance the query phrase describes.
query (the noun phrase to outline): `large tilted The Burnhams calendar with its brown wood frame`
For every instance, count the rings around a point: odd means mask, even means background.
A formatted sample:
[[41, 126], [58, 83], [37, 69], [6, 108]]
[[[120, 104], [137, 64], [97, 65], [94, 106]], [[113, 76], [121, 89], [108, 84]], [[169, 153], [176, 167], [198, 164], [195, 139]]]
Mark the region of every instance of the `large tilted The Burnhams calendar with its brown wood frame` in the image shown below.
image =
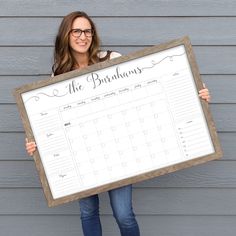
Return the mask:
[[188, 37], [15, 89], [49, 206], [222, 156]]

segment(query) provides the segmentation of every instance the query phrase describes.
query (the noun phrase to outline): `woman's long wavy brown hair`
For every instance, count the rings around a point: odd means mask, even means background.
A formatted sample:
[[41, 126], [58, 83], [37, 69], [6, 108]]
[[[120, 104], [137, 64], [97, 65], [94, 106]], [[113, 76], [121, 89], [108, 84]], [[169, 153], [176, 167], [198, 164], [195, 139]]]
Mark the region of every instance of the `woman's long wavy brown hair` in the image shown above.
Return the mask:
[[74, 56], [72, 55], [72, 51], [69, 45], [69, 34], [74, 20], [78, 17], [86, 18], [91, 24], [91, 27], [94, 31], [92, 43], [88, 51], [88, 64], [95, 64], [99, 61], [98, 52], [100, 48], [100, 40], [94, 22], [85, 12], [72, 12], [63, 18], [58, 30], [58, 34], [56, 36], [54, 48], [54, 64], [52, 67], [54, 75], [60, 75], [65, 72], [72, 71], [75, 68], [76, 61]]

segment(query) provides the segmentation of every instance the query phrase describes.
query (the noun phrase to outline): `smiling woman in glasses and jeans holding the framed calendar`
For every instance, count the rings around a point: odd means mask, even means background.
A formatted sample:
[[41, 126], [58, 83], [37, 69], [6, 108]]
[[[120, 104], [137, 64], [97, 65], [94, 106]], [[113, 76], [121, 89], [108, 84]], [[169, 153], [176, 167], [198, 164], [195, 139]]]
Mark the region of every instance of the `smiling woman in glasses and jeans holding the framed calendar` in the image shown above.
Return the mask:
[[[64, 17], [56, 37], [53, 74], [63, 74], [120, 56], [115, 52], [100, 52], [99, 49], [99, 38], [93, 21], [84, 12], [70, 13]], [[207, 101], [210, 99], [206, 88], [199, 92], [199, 96]], [[26, 139], [28, 154], [33, 155], [35, 149], [36, 144]], [[108, 193], [121, 235], [139, 236], [132, 209], [132, 186], [110, 190]], [[101, 236], [98, 195], [81, 199], [79, 204], [84, 235]]]

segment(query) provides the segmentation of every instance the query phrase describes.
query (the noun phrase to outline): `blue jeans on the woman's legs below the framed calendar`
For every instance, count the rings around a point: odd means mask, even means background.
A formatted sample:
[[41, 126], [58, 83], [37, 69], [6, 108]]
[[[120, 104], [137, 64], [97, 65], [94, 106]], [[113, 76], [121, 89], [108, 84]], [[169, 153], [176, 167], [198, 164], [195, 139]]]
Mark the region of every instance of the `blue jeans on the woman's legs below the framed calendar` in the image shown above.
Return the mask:
[[[132, 209], [132, 185], [113, 189], [108, 193], [121, 236], [140, 236]], [[98, 195], [83, 198], [79, 203], [84, 236], [102, 236]]]

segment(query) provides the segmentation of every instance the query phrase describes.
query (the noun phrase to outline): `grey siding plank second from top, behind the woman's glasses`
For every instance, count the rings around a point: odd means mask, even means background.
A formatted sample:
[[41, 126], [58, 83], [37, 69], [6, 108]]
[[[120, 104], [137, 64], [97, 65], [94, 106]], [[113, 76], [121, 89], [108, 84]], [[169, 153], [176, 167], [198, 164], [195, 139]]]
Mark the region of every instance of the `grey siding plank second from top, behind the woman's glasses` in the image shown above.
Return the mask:
[[[2, 18], [0, 32], [9, 30], [0, 38], [0, 44], [53, 46], [61, 20], [62, 17]], [[154, 45], [183, 35], [189, 35], [193, 45], [228, 46], [236, 42], [235, 17], [117, 17], [110, 20], [94, 17], [93, 20], [104, 45]]]

